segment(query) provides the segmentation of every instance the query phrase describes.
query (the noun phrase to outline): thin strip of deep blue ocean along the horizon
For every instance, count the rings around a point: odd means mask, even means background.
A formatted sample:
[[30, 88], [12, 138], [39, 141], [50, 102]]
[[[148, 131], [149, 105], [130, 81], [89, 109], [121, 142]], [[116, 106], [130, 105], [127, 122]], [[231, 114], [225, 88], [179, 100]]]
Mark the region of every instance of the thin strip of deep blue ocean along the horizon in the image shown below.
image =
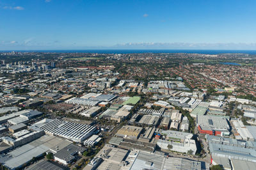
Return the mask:
[[132, 53], [188, 53], [188, 54], [255, 54], [256, 50], [126, 50], [126, 49], [106, 49], [106, 50], [0, 50], [0, 52], [84, 52], [84, 53], [102, 53], [102, 54], [132, 54]]

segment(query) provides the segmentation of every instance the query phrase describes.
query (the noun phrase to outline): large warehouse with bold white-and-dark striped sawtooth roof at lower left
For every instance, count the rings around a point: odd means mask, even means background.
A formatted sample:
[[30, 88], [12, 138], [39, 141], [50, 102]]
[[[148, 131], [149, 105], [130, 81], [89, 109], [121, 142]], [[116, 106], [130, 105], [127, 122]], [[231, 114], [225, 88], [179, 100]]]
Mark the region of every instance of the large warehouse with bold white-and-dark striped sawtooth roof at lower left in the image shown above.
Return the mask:
[[96, 127], [62, 120], [52, 120], [42, 127], [46, 134], [58, 135], [71, 141], [81, 143], [97, 130]]

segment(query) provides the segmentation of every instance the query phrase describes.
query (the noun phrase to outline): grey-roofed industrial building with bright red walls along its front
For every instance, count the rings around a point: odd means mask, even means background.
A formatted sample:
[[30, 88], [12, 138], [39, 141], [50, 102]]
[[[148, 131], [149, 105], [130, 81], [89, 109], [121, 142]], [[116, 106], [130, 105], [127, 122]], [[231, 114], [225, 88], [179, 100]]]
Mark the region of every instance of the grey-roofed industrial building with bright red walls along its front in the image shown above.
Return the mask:
[[200, 134], [229, 135], [230, 126], [226, 118], [218, 116], [198, 115], [196, 124]]

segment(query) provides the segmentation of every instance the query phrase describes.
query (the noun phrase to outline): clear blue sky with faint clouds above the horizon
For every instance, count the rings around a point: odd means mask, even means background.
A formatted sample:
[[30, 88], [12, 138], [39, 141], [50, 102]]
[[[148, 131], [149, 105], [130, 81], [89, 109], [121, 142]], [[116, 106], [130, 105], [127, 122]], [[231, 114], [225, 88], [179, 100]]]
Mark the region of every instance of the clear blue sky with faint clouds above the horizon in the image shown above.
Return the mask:
[[255, 0], [1, 0], [0, 50], [256, 50], [255, 6]]

